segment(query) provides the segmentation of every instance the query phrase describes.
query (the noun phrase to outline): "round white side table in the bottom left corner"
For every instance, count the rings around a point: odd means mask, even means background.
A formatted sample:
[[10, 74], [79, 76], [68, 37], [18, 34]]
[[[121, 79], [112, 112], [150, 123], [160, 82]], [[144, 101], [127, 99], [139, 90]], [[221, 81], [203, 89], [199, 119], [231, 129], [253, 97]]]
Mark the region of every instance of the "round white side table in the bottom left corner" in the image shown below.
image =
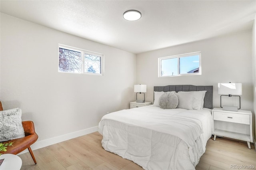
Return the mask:
[[20, 170], [22, 166], [21, 158], [14, 154], [2, 154], [0, 159], [4, 159], [0, 165], [0, 170]]

